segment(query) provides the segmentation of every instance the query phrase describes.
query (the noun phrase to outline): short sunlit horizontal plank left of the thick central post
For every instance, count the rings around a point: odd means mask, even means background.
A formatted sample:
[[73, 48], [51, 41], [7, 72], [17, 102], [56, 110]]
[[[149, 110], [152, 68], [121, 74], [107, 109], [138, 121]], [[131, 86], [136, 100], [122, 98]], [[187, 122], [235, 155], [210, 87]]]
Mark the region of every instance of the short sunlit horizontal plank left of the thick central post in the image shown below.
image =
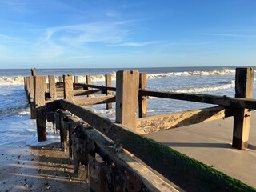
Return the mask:
[[100, 97], [90, 97], [90, 98], [74, 98], [73, 102], [78, 106], [91, 106], [108, 102], [115, 102], [115, 96], [100, 96]]

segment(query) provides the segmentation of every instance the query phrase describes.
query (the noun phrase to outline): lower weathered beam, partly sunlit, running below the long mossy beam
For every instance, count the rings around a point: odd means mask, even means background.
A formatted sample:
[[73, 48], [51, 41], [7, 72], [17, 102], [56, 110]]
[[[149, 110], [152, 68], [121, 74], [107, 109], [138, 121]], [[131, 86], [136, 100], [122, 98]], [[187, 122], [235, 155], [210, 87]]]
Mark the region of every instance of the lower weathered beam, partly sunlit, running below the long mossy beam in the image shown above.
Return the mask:
[[[76, 125], [81, 123], [74, 118], [66, 118], [66, 121], [75, 122]], [[127, 169], [138, 175], [142, 182], [146, 186], [148, 191], [178, 191], [172, 186], [170, 182], [164, 181], [159, 178], [152, 170], [150, 170], [144, 163], [142, 163], [138, 158], [131, 154], [127, 150], [122, 150], [122, 152], [116, 152], [109, 146], [114, 146], [114, 142], [110, 142], [110, 139], [103, 137], [98, 131], [94, 129], [82, 129], [84, 135], [86, 135], [87, 143], [90, 141], [94, 142], [95, 148], [98, 150], [98, 154], [104, 154], [104, 158], [110, 159], [114, 162], [115, 167], [122, 167], [122, 169]], [[89, 151], [90, 149], [86, 149]], [[125, 172], [127, 172], [127, 170]], [[99, 177], [99, 175], [98, 175]], [[129, 179], [129, 178], [128, 178]], [[133, 178], [130, 178], [131, 181]]]

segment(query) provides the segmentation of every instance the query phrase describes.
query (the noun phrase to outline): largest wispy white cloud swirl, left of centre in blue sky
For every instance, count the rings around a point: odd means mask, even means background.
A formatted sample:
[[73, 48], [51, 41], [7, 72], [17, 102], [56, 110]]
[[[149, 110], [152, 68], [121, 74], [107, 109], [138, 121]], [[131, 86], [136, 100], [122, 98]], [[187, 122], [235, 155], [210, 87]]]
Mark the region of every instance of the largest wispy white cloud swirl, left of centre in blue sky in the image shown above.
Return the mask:
[[[124, 22], [91, 22], [74, 26], [58, 26], [42, 30], [39, 43], [54, 41], [81, 46], [90, 42], [116, 44], [123, 42], [133, 31]], [[129, 25], [129, 24], [128, 24]]]

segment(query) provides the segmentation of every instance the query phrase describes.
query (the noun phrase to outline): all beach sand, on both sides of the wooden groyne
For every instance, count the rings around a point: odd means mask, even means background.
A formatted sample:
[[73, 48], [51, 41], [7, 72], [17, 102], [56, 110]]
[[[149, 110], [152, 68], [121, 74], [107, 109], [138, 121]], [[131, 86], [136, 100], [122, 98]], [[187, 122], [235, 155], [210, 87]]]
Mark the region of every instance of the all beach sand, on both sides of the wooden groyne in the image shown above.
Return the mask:
[[[256, 114], [249, 148], [231, 147], [233, 118], [147, 134], [158, 142], [256, 187]], [[31, 148], [22, 142], [0, 146], [0, 191], [90, 191], [83, 166], [74, 178], [73, 165], [59, 143]]]

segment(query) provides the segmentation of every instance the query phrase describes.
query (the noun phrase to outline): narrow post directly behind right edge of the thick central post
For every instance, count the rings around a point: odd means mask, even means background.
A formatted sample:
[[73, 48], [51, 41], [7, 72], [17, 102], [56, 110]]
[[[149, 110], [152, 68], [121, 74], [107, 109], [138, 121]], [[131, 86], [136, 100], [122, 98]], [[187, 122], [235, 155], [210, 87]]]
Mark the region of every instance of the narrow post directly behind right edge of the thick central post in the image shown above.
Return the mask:
[[[146, 74], [139, 74], [139, 88], [146, 90]], [[146, 118], [147, 110], [147, 97], [139, 96], [138, 97], [138, 117]]]

